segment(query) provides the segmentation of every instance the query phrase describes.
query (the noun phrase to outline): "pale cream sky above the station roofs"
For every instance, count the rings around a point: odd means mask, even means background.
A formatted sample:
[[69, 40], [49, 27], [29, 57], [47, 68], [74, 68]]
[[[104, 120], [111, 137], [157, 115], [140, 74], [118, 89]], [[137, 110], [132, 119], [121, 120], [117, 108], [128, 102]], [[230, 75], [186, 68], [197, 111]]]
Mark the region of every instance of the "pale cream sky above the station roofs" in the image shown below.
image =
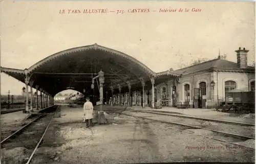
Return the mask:
[[[219, 50], [237, 62], [234, 51], [240, 46], [249, 50], [250, 64], [255, 60], [254, 4], [2, 1], [1, 66], [25, 69], [59, 51], [94, 43], [130, 55], [154, 72], [178, 69], [197, 58], [214, 59]], [[139, 8], [151, 12], [128, 12]], [[189, 12], [159, 12], [170, 8]], [[74, 9], [125, 13], [67, 14]], [[23, 86], [1, 73], [1, 94], [21, 94]]]

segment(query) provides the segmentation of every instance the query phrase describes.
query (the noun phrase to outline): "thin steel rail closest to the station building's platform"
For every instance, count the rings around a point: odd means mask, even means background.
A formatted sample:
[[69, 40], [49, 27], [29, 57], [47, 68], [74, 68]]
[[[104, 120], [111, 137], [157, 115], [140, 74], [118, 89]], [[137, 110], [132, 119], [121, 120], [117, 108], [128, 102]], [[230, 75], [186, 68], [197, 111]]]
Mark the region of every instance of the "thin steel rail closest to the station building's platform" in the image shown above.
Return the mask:
[[178, 117], [181, 117], [181, 118], [205, 120], [205, 121], [220, 122], [220, 123], [234, 124], [234, 125], [255, 126], [254, 124], [239, 123], [239, 122], [231, 122], [231, 121], [216, 120], [216, 119], [207, 119], [207, 118], [198, 118], [198, 117], [194, 117], [194, 116], [180, 115], [180, 114], [170, 114], [170, 113], [164, 113], [164, 112], [138, 111], [138, 110], [132, 111], [132, 112], [141, 112], [141, 113], [151, 113], [151, 114], [161, 114], [161, 115], [178, 116]]

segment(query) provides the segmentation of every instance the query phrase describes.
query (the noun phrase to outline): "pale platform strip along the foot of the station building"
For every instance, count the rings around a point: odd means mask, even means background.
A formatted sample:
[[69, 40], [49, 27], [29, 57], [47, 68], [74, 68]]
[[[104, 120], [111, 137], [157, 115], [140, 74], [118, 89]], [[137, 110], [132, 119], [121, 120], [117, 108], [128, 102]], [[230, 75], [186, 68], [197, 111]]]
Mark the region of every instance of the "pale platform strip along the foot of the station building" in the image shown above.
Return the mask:
[[[184, 115], [196, 116], [199, 118], [206, 118], [206, 119], [255, 124], [255, 114], [225, 113], [225, 112], [214, 111], [215, 109], [195, 109], [195, 108], [178, 109], [173, 107], [152, 109], [150, 107], [142, 108], [140, 106], [124, 107], [124, 106], [110, 106], [110, 105], [108, 105], [107, 108], [108, 109], [127, 108], [127, 109], [142, 110], [142, 111], [154, 111], [154, 112], [166, 112], [166, 113], [169, 112], [171, 114], [184, 114]], [[246, 118], [246, 117], [249, 117], [249, 118]]]

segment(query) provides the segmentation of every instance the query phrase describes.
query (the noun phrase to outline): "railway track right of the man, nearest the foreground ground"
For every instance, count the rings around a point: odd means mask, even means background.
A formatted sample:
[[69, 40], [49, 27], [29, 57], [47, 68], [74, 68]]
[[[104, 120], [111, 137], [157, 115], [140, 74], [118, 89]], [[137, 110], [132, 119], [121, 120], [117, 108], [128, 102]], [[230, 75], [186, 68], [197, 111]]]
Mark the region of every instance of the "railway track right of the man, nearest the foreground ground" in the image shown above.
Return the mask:
[[[126, 112], [121, 112], [120, 114], [127, 115], [127, 116], [133, 116], [135, 118], [140, 118], [140, 119], [146, 119], [146, 120], [150, 120], [150, 121], [153, 121], [153, 122], [164, 123], [164, 124], [168, 125], [168, 126], [164, 126], [164, 127], [169, 128], [169, 129], [179, 130], [179, 131], [183, 131], [183, 132], [187, 132], [187, 133], [207, 137], [207, 138], [210, 138], [210, 139], [219, 140], [221, 142], [236, 145], [236, 146], [239, 146], [239, 147], [245, 147], [245, 148], [255, 150], [255, 148], [248, 147], [248, 146], [241, 145], [241, 144], [237, 144], [239, 142], [244, 142], [245, 140], [248, 140], [248, 139], [255, 139], [254, 137], [251, 137], [251, 136], [233, 134], [233, 133], [229, 133], [229, 132], [225, 132], [225, 131], [217, 131], [217, 130], [214, 130], [214, 129], [208, 129], [208, 128], [204, 128], [204, 127], [200, 127], [200, 126], [194, 126], [193, 124], [186, 125], [186, 124], [183, 124], [181, 122], [170, 122], [170, 121], [163, 121], [163, 120], [160, 120], [160, 119], [152, 119], [152, 118], [150, 118], [151, 116], [149, 116], [149, 115], [147, 115], [147, 116], [138, 116], [138, 115], [134, 115], [132, 113], [133, 112], [127, 112], [126, 111]], [[161, 117], [159, 117], [159, 118], [161, 118]], [[169, 125], [171, 125], [171, 126], [169, 126]], [[187, 129], [208, 130], [208, 131], [212, 131], [213, 135], [212, 136], [201, 135], [201, 134], [197, 134], [195, 132], [188, 131]]]

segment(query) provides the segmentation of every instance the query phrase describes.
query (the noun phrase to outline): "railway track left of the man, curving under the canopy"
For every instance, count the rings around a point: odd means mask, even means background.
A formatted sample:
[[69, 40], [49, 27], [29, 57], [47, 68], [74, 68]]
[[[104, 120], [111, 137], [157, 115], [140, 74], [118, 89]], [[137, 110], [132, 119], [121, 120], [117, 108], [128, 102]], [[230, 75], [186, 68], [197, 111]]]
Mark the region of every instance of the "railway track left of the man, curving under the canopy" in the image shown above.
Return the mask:
[[59, 107], [60, 106], [57, 106], [52, 111], [42, 113], [30, 123], [3, 139], [1, 141], [1, 149], [25, 147], [28, 149], [30, 156], [26, 159], [27, 161], [23, 161], [23, 163], [29, 164], [38, 146], [41, 144], [56, 112], [59, 110]]

